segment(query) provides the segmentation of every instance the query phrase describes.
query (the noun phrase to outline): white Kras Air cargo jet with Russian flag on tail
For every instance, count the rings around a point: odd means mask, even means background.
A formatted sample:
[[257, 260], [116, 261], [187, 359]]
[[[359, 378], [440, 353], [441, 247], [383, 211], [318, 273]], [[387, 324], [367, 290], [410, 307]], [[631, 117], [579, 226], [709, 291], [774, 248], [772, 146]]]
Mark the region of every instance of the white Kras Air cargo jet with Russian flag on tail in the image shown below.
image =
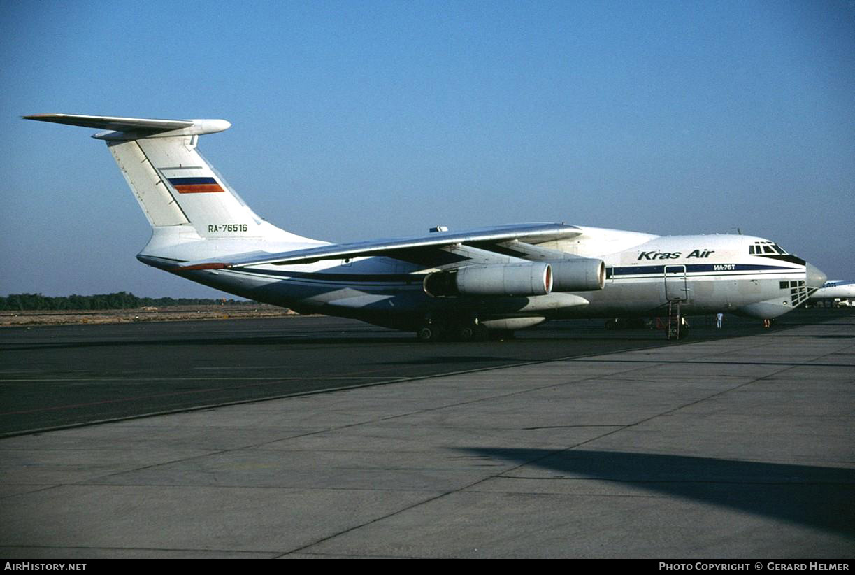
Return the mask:
[[[566, 223], [332, 244], [257, 216], [197, 151], [225, 120], [39, 114], [91, 127], [150, 222], [140, 262], [299, 313], [352, 317], [423, 341], [482, 341], [549, 319], [719, 311], [771, 319], [826, 276], [771, 240], [658, 236]], [[669, 331], [669, 337], [676, 335]]]

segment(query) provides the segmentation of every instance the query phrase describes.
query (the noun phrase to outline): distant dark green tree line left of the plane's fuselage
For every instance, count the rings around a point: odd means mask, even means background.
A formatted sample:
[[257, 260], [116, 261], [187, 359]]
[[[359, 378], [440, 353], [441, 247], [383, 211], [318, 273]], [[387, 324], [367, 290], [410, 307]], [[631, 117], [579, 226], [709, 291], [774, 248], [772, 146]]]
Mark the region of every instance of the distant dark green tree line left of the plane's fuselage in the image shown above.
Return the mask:
[[257, 305], [238, 299], [140, 298], [133, 293], [95, 293], [50, 297], [41, 293], [10, 293], [0, 297], [0, 311], [32, 310], [129, 310], [137, 307], [170, 307], [173, 305]]

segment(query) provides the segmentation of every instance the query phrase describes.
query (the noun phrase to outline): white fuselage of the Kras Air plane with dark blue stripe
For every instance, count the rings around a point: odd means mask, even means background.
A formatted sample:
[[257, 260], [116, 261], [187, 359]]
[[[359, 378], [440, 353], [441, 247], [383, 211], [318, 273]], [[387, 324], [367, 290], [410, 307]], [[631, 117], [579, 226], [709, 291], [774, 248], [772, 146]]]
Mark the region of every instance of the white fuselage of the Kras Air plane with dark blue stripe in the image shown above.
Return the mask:
[[[734, 311], [770, 318], [792, 310], [807, 298], [804, 260], [777, 251], [750, 253], [754, 252], [751, 246], [772, 245], [769, 240], [746, 235], [657, 236], [580, 229], [583, 233], [577, 237], [540, 247], [569, 256], [601, 258], [606, 266], [601, 290], [527, 297], [436, 298], [425, 293], [422, 283], [437, 268], [425, 269], [386, 257], [176, 273], [228, 293], [296, 311], [356, 317], [400, 329], [415, 329], [426, 314], [437, 312], [469, 314], [487, 325], [491, 321], [505, 325], [513, 319], [516, 327], [562, 317], [650, 317], [663, 315], [669, 300], [681, 301], [684, 314]], [[248, 246], [246, 240], [240, 242], [242, 252], [251, 251], [251, 247], [288, 252], [318, 245], [271, 244], [268, 240]], [[210, 253], [234, 252], [238, 247], [217, 246], [211, 240], [166, 242], [168, 248], [152, 249], [156, 245], [153, 240], [139, 258], [164, 269], [169, 268], [165, 261], [208, 257], [198, 252], [200, 246]], [[467, 252], [473, 257], [473, 250]]]

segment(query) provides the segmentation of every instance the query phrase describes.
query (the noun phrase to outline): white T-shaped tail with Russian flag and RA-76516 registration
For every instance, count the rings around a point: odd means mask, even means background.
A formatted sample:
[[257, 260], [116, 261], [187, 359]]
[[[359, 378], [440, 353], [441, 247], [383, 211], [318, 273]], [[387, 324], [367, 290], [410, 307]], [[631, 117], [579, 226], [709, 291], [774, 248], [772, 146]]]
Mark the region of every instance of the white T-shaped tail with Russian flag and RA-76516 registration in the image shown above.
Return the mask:
[[[198, 137], [231, 127], [225, 120], [153, 120], [38, 114], [27, 120], [99, 127], [122, 175], [153, 228], [192, 227], [203, 238], [306, 240], [274, 228], [196, 150]], [[188, 230], [189, 231], [189, 230]]]

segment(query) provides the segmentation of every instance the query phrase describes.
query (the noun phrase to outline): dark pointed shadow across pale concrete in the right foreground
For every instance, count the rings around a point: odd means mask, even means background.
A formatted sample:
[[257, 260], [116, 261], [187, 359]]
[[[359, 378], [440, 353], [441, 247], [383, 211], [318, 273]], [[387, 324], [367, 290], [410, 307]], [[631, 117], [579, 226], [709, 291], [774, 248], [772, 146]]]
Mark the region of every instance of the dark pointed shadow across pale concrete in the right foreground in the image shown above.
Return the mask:
[[[855, 538], [855, 469], [612, 451], [464, 448], [555, 471], [729, 507]], [[519, 471], [503, 478], [521, 478]]]

